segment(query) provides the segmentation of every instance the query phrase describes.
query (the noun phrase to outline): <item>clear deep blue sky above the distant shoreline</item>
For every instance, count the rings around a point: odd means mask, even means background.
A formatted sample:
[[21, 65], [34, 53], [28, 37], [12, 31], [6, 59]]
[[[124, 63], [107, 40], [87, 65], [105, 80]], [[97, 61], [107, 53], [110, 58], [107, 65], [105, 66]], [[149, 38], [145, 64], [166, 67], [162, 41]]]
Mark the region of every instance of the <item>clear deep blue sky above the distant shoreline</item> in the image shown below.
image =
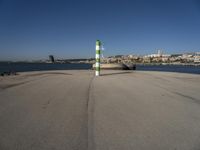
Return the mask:
[[200, 51], [200, 0], [0, 0], [0, 60]]

